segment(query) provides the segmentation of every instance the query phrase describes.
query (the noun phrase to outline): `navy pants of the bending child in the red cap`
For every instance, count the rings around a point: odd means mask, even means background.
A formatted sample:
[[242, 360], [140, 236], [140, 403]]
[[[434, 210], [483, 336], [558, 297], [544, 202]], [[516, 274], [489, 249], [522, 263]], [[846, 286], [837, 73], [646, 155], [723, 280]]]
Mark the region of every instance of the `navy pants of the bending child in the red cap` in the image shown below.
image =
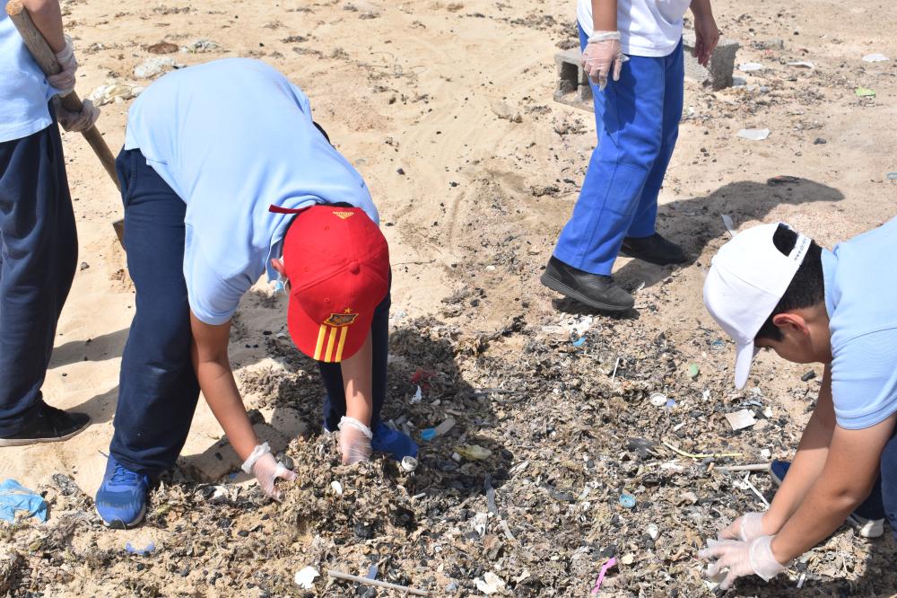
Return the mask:
[[[146, 164], [139, 149], [122, 150], [116, 169], [125, 204], [127, 268], [136, 300], [109, 451], [129, 470], [154, 477], [178, 458], [199, 398], [184, 280], [187, 205]], [[386, 397], [388, 325], [387, 296], [371, 325], [375, 420]], [[340, 367], [320, 364], [320, 371], [327, 389], [325, 423], [335, 429], [345, 414]]]

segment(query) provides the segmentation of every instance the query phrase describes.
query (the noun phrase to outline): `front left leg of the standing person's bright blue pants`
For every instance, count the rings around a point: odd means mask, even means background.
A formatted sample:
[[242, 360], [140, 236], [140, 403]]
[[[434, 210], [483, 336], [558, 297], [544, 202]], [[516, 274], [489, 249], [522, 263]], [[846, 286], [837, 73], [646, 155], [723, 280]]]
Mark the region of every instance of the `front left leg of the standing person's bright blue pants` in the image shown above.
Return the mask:
[[[586, 44], [579, 31], [580, 44]], [[598, 145], [554, 256], [592, 274], [611, 273], [649, 172], [663, 145], [666, 58], [630, 57], [619, 81], [592, 85]]]

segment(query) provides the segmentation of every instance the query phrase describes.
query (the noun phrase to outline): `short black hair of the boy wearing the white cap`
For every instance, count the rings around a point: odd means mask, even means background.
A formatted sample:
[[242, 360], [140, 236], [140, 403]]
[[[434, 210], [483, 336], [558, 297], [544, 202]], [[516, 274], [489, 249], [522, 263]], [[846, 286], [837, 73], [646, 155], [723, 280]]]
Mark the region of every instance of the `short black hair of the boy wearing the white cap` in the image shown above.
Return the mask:
[[[779, 224], [776, 233], [772, 235], [772, 243], [783, 255], [789, 255], [797, 243], [797, 233], [785, 224]], [[804, 262], [797, 268], [797, 273], [791, 279], [785, 295], [782, 295], [776, 309], [772, 310], [770, 317], [763, 322], [755, 339], [781, 340], [781, 330], [772, 323], [773, 317], [782, 312], [812, 307], [824, 302], [823, 248], [815, 241], [811, 241]]]

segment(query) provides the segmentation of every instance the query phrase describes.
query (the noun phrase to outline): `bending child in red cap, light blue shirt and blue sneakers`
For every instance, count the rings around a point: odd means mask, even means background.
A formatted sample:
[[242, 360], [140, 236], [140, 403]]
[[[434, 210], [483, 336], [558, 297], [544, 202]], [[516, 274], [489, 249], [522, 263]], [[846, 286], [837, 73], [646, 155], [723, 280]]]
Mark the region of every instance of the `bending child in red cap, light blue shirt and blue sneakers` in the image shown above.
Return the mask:
[[290, 334], [320, 365], [324, 427], [339, 430], [343, 462], [416, 455], [379, 419], [390, 271], [377, 208], [303, 92], [246, 58], [165, 75], [129, 110], [117, 167], [136, 312], [96, 498], [104, 522], [142, 520], [200, 390], [267, 495], [295, 478], [259, 444], [228, 358], [240, 297], [266, 270], [290, 289]]

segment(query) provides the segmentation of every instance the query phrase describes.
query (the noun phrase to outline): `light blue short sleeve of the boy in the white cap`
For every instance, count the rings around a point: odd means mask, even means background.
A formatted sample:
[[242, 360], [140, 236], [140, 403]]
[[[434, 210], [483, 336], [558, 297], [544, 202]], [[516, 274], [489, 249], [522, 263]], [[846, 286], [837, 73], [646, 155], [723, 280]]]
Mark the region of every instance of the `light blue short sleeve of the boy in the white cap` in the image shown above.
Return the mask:
[[832, 357], [832, 400], [840, 427], [872, 427], [897, 412], [897, 329], [850, 339], [834, 347]]

